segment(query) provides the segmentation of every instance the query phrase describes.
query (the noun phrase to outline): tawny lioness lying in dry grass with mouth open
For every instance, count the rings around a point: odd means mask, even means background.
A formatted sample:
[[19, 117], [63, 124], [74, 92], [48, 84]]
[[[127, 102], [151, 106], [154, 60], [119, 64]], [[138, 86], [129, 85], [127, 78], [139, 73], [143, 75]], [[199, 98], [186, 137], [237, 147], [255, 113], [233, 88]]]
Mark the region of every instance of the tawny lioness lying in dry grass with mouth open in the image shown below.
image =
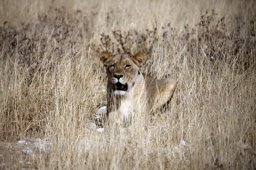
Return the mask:
[[102, 51], [99, 59], [107, 69], [106, 118], [111, 124], [127, 125], [135, 116], [147, 121], [148, 113], [172, 98], [176, 88], [174, 79], [154, 79], [140, 72], [140, 67], [146, 61], [146, 54], [111, 55]]

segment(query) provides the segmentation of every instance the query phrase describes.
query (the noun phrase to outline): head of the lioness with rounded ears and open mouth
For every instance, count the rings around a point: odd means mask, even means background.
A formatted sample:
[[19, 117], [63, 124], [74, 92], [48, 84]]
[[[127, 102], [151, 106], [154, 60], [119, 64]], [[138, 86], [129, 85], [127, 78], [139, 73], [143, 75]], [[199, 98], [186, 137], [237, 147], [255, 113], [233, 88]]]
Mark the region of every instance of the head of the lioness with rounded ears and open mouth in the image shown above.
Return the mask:
[[141, 77], [140, 67], [146, 61], [146, 54], [137, 53], [131, 56], [126, 53], [112, 56], [102, 51], [100, 60], [107, 68], [108, 80], [112, 83], [115, 95], [125, 95], [133, 86], [138, 77]]

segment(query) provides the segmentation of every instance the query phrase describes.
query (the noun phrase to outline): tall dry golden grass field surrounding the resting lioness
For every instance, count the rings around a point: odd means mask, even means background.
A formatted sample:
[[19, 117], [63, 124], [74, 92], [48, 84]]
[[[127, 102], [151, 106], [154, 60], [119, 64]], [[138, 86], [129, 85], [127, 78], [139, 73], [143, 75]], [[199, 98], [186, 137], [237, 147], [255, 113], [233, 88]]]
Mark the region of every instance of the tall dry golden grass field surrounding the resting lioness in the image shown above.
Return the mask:
[[[256, 169], [255, 8], [3, 0], [0, 169]], [[148, 132], [91, 127], [106, 105], [102, 50], [145, 52], [144, 72], [177, 80]], [[42, 150], [38, 138], [52, 144]]]

